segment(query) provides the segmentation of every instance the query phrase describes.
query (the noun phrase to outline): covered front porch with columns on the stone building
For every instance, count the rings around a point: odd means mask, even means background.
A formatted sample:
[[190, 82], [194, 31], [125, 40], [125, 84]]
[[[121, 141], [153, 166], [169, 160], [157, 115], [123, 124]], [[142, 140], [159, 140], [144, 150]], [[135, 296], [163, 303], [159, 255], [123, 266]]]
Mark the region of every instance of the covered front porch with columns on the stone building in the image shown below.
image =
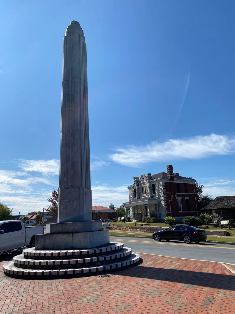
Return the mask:
[[143, 217], [149, 216], [159, 218], [158, 199], [152, 197], [143, 197], [134, 199], [123, 204], [130, 207], [130, 218], [134, 218], [134, 213], [142, 213]]

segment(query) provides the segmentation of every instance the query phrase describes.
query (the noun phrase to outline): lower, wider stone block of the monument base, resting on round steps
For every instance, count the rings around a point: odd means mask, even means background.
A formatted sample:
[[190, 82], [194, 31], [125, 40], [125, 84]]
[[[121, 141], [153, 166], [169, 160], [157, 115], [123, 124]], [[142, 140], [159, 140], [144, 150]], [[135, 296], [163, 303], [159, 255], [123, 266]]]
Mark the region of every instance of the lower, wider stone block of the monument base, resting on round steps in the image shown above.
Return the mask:
[[35, 250], [85, 249], [109, 243], [109, 230], [46, 233], [35, 236]]

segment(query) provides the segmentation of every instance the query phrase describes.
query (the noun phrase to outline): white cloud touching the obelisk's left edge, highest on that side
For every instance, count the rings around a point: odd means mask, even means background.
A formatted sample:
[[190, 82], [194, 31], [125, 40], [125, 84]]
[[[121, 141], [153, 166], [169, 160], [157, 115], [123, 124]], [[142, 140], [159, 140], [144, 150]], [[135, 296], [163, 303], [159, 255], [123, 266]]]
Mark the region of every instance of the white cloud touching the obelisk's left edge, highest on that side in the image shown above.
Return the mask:
[[50, 175], [58, 175], [60, 168], [60, 160], [51, 159], [51, 160], [19, 160], [20, 169], [29, 172], [40, 172]]

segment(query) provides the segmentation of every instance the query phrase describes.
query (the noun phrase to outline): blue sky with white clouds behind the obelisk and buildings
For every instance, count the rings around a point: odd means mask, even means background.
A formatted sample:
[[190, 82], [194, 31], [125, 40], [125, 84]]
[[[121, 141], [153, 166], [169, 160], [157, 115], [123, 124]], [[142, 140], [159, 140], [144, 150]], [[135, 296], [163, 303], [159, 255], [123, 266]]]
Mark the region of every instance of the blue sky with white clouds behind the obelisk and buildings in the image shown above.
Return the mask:
[[8, 1], [0, 26], [0, 202], [28, 213], [58, 186], [63, 36], [85, 33], [92, 204], [172, 164], [234, 195], [234, 1]]

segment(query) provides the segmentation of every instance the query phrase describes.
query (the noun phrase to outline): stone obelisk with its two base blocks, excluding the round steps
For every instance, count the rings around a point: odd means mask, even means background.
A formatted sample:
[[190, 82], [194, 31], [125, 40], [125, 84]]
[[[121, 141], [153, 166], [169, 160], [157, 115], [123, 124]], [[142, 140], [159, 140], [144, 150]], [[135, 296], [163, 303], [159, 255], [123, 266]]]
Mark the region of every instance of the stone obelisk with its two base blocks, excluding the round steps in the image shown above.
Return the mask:
[[92, 221], [86, 43], [77, 21], [63, 45], [58, 223], [36, 236], [36, 249], [84, 248], [109, 242], [102, 223]]

